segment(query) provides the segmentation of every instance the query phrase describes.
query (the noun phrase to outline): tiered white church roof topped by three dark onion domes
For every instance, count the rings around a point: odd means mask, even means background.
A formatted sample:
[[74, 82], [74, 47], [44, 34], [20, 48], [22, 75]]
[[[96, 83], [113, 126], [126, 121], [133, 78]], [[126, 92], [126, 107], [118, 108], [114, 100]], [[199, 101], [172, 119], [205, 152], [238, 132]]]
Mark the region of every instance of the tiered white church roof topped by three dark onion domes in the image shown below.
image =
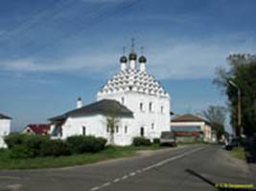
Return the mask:
[[[133, 45], [134, 46], [134, 45]], [[127, 64], [129, 60], [129, 66]], [[166, 96], [169, 94], [161, 84], [146, 71], [147, 59], [141, 55], [138, 59], [140, 67], [136, 67], [137, 56], [132, 47], [127, 58], [123, 55], [120, 59], [121, 71], [109, 79], [106, 85], [98, 93], [98, 96], [105, 96], [114, 93], [137, 92], [152, 96]]]

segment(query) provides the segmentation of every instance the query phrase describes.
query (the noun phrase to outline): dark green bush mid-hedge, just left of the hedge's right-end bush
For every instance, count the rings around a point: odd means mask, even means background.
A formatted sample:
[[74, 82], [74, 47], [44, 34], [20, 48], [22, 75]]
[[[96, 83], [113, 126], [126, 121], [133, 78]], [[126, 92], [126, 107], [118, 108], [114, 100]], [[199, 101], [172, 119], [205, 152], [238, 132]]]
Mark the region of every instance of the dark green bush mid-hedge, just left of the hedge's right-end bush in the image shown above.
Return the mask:
[[61, 139], [49, 139], [42, 142], [40, 146], [40, 156], [68, 156], [71, 152], [68, 144]]

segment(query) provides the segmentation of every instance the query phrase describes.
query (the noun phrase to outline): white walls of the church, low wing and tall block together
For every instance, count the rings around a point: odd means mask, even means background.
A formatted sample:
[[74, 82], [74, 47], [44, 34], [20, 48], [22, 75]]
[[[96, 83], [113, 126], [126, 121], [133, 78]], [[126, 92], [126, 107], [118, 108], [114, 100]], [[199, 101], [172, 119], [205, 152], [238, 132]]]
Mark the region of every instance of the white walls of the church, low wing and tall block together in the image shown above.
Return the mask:
[[[123, 97], [123, 98], [122, 98]], [[170, 100], [168, 97], [149, 96], [134, 92], [114, 94], [97, 97], [101, 99], [114, 99], [128, 107], [133, 112], [133, 117], [122, 117], [118, 124], [119, 131], [114, 134], [116, 145], [129, 145], [132, 138], [140, 137], [141, 128], [144, 128], [145, 138], [160, 138], [161, 132], [170, 131]], [[150, 111], [150, 102], [152, 110]], [[140, 103], [143, 103], [143, 110], [140, 110]], [[161, 111], [163, 107], [163, 112]], [[110, 134], [106, 131], [106, 120], [103, 115], [93, 115], [86, 117], [68, 117], [62, 125], [62, 137], [82, 135], [82, 127], [86, 128], [86, 136], [103, 137], [110, 139]], [[153, 124], [153, 127], [152, 127]], [[128, 131], [125, 131], [127, 126]], [[54, 125], [51, 127], [52, 131]]]

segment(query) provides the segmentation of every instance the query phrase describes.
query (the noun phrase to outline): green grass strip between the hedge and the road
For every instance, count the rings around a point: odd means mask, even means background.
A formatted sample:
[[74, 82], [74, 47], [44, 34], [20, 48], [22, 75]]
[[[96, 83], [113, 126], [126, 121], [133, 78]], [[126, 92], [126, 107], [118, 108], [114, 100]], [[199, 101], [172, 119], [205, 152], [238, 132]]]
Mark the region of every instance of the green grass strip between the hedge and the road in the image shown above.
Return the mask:
[[0, 169], [33, 169], [33, 168], [57, 168], [65, 166], [94, 163], [105, 159], [117, 159], [130, 157], [138, 150], [154, 150], [161, 148], [153, 144], [147, 147], [107, 147], [104, 151], [96, 154], [81, 154], [66, 157], [46, 157], [35, 159], [10, 159], [9, 151], [0, 151]]

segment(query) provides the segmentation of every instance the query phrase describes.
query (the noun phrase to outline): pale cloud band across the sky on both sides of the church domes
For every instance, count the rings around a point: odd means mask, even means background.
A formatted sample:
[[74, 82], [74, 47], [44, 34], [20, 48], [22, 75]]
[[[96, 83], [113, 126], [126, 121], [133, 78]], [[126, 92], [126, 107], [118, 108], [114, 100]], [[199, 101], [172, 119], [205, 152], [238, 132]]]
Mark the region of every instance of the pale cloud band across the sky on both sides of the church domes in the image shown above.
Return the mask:
[[[157, 78], [202, 78], [212, 77], [216, 68], [227, 66], [225, 58], [230, 52], [254, 53], [253, 39], [233, 42], [207, 40], [201, 42], [167, 41], [164, 45], [149, 45], [146, 56], [148, 69]], [[117, 43], [117, 42], [112, 42]], [[116, 45], [107, 45], [115, 47]], [[94, 48], [97, 49], [97, 48]], [[105, 49], [104, 49], [105, 50]], [[108, 49], [107, 49], [108, 50]], [[58, 60], [39, 61], [35, 58], [17, 59], [0, 62], [4, 70], [31, 73], [73, 73], [103, 76], [114, 74], [119, 70], [119, 55], [109, 49], [102, 53], [97, 50], [93, 53], [77, 53]]]

